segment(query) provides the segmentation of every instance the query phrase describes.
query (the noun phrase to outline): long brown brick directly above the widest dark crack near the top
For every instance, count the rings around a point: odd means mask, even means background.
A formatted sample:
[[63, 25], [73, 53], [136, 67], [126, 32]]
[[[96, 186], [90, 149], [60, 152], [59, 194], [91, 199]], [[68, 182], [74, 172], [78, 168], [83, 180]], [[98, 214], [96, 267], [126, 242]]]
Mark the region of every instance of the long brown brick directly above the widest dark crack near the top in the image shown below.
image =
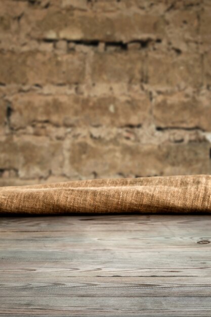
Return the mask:
[[[31, 14], [31, 13], [30, 13]], [[48, 10], [36, 12], [37, 21], [30, 21], [30, 34], [39, 39], [67, 39], [69, 41], [129, 42], [143, 38], [157, 38], [164, 34], [164, 20], [157, 15], [127, 11], [115, 15], [80, 13], [73, 15], [67, 11]], [[89, 27], [87, 27], [89, 25]]]

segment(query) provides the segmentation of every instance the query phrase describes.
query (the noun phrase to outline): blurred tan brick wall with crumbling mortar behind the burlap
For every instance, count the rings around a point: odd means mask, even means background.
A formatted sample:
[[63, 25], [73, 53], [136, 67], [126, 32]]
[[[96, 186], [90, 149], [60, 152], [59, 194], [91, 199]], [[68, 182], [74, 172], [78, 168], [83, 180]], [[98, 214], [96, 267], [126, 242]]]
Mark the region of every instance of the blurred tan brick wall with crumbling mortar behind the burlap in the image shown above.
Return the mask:
[[210, 0], [0, 2], [0, 185], [209, 174]]

